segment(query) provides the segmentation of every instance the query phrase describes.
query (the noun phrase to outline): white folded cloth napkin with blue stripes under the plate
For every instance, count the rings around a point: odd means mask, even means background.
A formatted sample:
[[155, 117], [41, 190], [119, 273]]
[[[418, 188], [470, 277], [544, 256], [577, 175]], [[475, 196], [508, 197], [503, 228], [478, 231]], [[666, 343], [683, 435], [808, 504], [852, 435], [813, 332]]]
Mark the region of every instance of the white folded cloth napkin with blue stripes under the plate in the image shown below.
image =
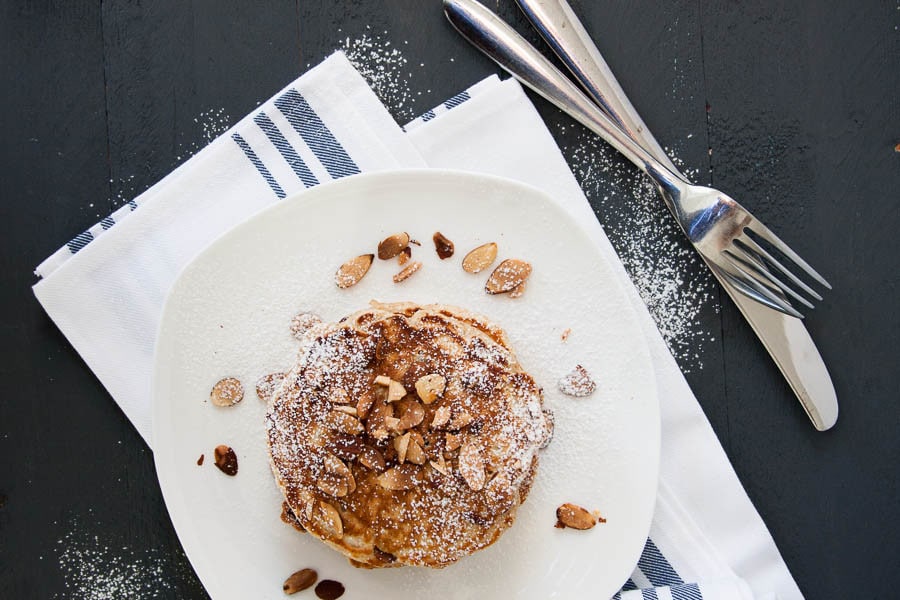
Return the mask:
[[444, 167], [551, 192], [617, 265], [650, 347], [662, 412], [650, 538], [616, 595], [802, 598], [559, 148], [514, 80], [490, 77], [399, 127], [336, 53], [37, 267], [34, 292], [148, 443], [153, 347], [173, 281], [261, 208], [361, 172]]

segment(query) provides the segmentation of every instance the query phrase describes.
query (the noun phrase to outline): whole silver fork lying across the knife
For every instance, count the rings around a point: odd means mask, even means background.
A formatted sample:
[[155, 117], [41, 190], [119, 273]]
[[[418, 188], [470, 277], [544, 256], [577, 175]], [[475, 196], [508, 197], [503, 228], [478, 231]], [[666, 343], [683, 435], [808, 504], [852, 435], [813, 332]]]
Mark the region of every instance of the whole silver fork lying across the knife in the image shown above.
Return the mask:
[[475, 0], [444, 0], [444, 12], [476, 48], [647, 173], [694, 248], [711, 269], [740, 292], [770, 308], [803, 318], [787, 296], [808, 308], [813, 308], [812, 303], [798, 289], [815, 300], [822, 300], [822, 296], [785, 266], [784, 258], [831, 289], [805, 260], [733, 198], [690, 183], [671, 164], [654, 158], [496, 14]]

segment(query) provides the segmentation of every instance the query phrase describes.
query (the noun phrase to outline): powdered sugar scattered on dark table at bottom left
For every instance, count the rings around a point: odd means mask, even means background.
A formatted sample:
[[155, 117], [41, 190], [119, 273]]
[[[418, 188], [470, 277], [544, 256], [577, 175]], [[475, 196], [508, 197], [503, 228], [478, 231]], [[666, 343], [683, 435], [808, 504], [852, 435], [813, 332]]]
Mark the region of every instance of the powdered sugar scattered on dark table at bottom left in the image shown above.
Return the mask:
[[[174, 596], [204, 598], [184, 553], [171, 548], [134, 549], [87, 531], [73, 522], [56, 542], [64, 594], [79, 600], [145, 600]], [[174, 576], [173, 576], [174, 575]]]

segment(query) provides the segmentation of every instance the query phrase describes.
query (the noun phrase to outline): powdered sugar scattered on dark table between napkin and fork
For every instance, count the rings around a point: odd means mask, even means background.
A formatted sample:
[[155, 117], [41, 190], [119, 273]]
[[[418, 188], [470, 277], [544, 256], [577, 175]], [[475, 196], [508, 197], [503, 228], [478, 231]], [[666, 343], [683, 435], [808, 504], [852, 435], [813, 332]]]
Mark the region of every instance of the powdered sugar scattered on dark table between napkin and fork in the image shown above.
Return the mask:
[[[702, 260], [649, 179], [593, 134], [570, 127], [558, 126], [574, 138], [563, 154], [641, 299], [682, 370], [702, 369], [698, 348], [715, 340], [698, 320], [704, 309], [718, 310], [712, 274], [695, 267]], [[683, 170], [689, 178], [697, 174]]]

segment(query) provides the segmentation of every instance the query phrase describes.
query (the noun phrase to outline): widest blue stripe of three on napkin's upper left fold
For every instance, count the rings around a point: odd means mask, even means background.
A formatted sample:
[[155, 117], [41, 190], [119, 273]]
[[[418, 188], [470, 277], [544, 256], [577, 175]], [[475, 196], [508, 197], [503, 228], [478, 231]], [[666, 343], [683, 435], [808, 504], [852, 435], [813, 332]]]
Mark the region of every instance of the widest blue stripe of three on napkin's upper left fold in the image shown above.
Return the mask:
[[332, 178], [339, 179], [359, 173], [359, 167], [300, 92], [288, 90], [275, 99], [275, 106], [300, 134]]

